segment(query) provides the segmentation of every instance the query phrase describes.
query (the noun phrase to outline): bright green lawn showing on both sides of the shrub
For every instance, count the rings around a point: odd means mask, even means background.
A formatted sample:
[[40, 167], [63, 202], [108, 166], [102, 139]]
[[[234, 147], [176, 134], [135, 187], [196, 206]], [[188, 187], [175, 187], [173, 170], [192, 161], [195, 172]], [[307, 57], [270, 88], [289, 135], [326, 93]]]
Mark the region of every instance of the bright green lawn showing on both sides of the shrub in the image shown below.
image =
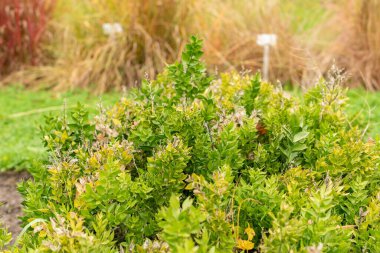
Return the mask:
[[[360, 124], [363, 128], [368, 125], [367, 136], [380, 134], [380, 92], [353, 89], [348, 95], [347, 113], [353, 119], [352, 124]], [[120, 96], [111, 93], [100, 98], [84, 91], [52, 93], [20, 87], [0, 89], [0, 170], [28, 169], [34, 160], [46, 156], [39, 125], [43, 124], [44, 115], [62, 113], [65, 100], [68, 110], [81, 102], [93, 115], [100, 101], [107, 107]]]

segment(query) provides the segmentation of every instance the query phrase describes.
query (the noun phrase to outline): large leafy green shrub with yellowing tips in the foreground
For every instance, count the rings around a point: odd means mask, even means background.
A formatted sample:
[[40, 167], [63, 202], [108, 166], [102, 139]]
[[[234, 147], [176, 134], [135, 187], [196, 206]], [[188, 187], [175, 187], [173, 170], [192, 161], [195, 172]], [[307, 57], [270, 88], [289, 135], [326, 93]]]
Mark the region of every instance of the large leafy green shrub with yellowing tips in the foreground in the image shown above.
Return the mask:
[[201, 55], [192, 38], [94, 121], [47, 120], [15, 251], [380, 251], [379, 139], [350, 126], [339, 72], [297, 99]]

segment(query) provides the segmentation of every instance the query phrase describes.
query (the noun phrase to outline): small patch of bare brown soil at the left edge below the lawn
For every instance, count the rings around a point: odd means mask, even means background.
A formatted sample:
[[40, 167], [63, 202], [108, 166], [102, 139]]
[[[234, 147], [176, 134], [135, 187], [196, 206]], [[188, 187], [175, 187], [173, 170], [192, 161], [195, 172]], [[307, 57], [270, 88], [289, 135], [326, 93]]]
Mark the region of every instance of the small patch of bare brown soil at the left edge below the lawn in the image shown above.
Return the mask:
[[15, 238], [21, 231], [21, 195], [17, 183], [30, 178], [27, 172], [0, 172], [0, 219]]

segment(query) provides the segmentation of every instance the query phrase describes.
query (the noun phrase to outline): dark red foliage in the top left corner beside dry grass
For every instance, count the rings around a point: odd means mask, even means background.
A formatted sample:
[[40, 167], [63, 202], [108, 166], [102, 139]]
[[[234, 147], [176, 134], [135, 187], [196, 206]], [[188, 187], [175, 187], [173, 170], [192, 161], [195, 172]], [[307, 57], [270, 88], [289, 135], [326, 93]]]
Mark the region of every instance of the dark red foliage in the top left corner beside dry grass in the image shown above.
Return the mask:
[[38, 64], [54, 0], [0, 1], [0, 75]]

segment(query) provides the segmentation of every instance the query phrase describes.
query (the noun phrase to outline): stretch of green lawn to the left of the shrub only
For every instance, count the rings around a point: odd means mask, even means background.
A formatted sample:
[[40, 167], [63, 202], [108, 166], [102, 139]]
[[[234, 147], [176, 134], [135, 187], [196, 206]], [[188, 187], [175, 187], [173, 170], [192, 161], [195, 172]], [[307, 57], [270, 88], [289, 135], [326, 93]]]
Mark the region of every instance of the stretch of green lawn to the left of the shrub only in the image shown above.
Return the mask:
[[39, 126], [44, 123], [44, 115], [62, 113], [65, 100], [68, 111], [81, 102], [94, 114], [100, 101], [110, 106], [119, 97], [117, 93], [97, 97], [84, 91], [52, 93], [20, 87], [0, 89], [0, 171], [28, 169], [34, 160], [44, 158]]

